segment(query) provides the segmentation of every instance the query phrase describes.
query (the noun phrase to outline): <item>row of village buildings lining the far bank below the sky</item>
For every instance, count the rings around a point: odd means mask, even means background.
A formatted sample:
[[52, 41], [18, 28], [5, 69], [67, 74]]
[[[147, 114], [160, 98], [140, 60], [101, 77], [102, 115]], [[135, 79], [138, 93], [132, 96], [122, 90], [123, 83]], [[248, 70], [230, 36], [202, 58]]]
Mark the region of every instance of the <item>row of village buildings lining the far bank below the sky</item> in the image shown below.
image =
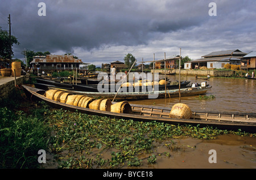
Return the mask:
[[[160, 59], [155, 61], [154, 68], [173, 70], [179, 68], [179, 61], [177, 57]], [[151, 61], [152, 62], [152, 61]], [[254, 70], [256, 68], [256, 52], [244, 53], [239, 49], [223, 50], [218, 52], [212, 52], [201, 56], [200, 59], [187, 61], [184, 63], [184, 69], [220, 69], [225, 68], [226, 64], [238, 65], [244, 70]], [[35, 56], [30, 62], [30, 66], [33, 71], [62, 71], [62, 70], [79, 70], [87, 71], [89, 63], [84, 63], [81, 59], [74, 58], [73, 55], [41, 55]], [[113, 61], [110, 63], [102, 63], [101, 70], [110, 71], [115, 67], [117, 71], [127, 69], [124, 62]], [[147, 66], [148, 67], [148, 66]], [[139, 63], [135, 68], [142, 70], [146, 68], [145, 63]], [[152, 67], [149, 67], [152, 68]]]

